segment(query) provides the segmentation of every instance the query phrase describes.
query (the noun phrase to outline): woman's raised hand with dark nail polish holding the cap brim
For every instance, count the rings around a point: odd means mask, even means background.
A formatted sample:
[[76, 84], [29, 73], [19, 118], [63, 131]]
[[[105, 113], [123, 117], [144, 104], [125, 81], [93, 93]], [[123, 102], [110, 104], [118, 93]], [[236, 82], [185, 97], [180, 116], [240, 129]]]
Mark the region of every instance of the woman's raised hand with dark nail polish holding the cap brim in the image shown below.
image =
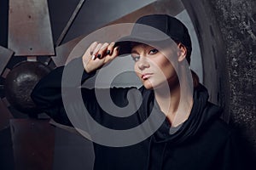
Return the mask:
[[87, 73], [102, 68], [119, 54], [119, 47], [114, 47], [114, 42], [93, 42], [83, 55], [84, 70]]

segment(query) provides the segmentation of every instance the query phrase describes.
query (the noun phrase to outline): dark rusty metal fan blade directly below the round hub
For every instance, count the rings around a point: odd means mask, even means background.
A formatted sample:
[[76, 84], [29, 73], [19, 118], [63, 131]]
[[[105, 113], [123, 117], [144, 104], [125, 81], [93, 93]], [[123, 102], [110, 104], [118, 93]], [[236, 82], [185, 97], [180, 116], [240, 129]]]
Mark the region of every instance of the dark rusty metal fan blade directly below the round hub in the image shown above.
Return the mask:
[[47, 120], [10, 120], [15, 170], [49, 170], [53, 167], [55, 127]]

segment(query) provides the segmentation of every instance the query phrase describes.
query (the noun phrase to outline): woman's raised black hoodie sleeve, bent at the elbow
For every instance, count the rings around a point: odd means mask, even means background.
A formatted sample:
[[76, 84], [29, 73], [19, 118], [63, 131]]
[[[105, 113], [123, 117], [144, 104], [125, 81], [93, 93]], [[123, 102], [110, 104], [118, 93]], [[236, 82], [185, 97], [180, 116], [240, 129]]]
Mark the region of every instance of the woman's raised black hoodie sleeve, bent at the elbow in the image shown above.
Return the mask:
[[[131, 88], [81, 88], [81, 84], [94, 75], [84, 71], [82, 58], [73, 59], [43, 77], [33, 89], [31, 97], [41, 111], [63, 125], [92, 127], [90, 125], [95, 120], [105, 127], [126, 129], [138, 124], [138, 114], [127, 116], [127, 119], [111, 115], [124, 114], [123, 110], [115, 109], [116, 106], [124, 108], [131, 105], [137, 108], [137, 103], [128, 102], [128, 98], [133, 101], [137, 99], [137, 92]], [[130, 90], [131, 93], [128, 93]]]

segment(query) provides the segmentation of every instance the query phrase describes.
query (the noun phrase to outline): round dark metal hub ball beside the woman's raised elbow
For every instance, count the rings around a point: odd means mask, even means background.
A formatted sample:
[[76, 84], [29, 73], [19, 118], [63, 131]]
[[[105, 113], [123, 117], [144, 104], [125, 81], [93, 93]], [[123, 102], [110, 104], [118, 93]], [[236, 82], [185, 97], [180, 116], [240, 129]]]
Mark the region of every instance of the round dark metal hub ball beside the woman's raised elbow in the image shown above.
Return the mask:
[[9, 103], [25, 114], [40, 113], [30, 94], [37, 82], [49, 71], [49, 67], [39, 61], [23, 61], [15, 65], [4, 82], [5, 96]]

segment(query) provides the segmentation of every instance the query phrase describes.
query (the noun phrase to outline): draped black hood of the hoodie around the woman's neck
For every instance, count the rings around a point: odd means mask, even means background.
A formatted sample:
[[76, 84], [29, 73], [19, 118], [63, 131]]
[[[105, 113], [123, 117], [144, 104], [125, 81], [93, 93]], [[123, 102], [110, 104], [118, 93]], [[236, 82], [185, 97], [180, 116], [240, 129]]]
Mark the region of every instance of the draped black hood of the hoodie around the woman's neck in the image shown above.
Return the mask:
[[171, 127], [166, 118], [158, 131], [154, 133], [154, 142], [183, 143], [200, 133], [208, 123], [220, 116], [222, 110], [217, 105], [208, 102], [209, 94], [203, 85], [200, 84], [195, 88], [193, 99], [194, 104], [189, 118], [178, 127]]

